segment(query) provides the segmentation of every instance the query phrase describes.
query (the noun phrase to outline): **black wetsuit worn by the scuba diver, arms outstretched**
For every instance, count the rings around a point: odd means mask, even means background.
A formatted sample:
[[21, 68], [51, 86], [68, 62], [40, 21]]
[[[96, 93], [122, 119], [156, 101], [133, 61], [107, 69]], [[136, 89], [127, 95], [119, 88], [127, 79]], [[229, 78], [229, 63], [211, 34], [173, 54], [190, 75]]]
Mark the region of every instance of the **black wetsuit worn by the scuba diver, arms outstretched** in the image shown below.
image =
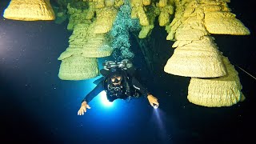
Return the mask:
[[[118, 95], [118, 97], [116, 96], [109, 96], [108, 93], [107, 94], [107, 98], [109, 99], [110, 102], [113, 102], [115, 99], [118, 98], [122, 98], [122, 99], [126, 99], [128, 97], [134, 97], [134, 91], [138, 91], [138, 94], [140, 96], [144, 96], [145, 98], [147, 97], [147, 95], [149, 94], [149, 92], [146, 90], [146, 88], [144, 88], [142, 86], [141, 83], [138, 82], [138, 80], [134, 77], [130, 78], [131, 81], [130, 83], [130, 89], [131, 89], [131, 94], [127, 95], [127, 94], [122, 94], [122, 95]], [[86, 102], [90, 102], [94, 97], [96, 97], [100, 92], [102, 92], [102, 90], [106, 90], [106, 79], [102, 80], [101, 82], [98, 83], [98, 85], [94, 88], [94, 90], [90, 91], [89, 94], [86, 95], [86, 97], [82, 100], [82, 102], [86, 101]], [[107, 92], [107, 90], [106, 90]]]

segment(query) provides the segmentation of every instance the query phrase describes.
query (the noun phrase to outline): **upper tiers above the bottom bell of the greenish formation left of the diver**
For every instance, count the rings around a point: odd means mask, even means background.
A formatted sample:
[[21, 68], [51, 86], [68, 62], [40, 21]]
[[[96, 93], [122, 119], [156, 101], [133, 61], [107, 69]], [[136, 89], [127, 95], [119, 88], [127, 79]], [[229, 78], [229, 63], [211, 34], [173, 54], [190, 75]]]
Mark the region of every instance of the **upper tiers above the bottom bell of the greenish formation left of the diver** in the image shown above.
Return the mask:
[[94, 23], [78, 24], [70, 35], [70, 45], [62, 52], [58, 60], [72, 55], [82, 55], [86, 58], [102, 58], [110, 56], [113, 49], [108, 45], [106, 34], [94, 34]]

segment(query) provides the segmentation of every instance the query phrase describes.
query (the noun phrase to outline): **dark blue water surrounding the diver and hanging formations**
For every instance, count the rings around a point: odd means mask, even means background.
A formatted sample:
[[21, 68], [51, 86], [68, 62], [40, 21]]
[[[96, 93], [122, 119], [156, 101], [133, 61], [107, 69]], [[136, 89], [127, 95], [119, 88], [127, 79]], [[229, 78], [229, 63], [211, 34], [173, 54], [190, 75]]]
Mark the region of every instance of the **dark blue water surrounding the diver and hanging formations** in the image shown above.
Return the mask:
[[[230, 107], [196, 106], [186, 98], [190, 78], [146, 69], [138, 44], [131, 38], [144, 84], [158, 97], [153, 110], [144, 98], [102, 106], [78, 116], [82, 98], [94, 88], [94, 79], [62, 81], [58, 56], [66, 50], [70, 31], [67, 22], [20, 22], [2, 17], [9, 1], [0, 2], [0, 106], [1, 143], [247, 143], [254, 142], [256, 80], [236, 68], [245, 102]], [[214, 35], [223, 55], [256, 76], [255, 10], [250, 1], [231, 1], [230, 8], [250, 29], [249, 36]], [[152, 35], [162, 49], [172, 53], [164, 28]], [[170, 52], [168, 52], [170, 50]], [[171, 55], [170, 55], [171, 56]], [[168, 55], [163, 55], [162, 61]], [[104, 61], [102, 58], [100, 62]]]

